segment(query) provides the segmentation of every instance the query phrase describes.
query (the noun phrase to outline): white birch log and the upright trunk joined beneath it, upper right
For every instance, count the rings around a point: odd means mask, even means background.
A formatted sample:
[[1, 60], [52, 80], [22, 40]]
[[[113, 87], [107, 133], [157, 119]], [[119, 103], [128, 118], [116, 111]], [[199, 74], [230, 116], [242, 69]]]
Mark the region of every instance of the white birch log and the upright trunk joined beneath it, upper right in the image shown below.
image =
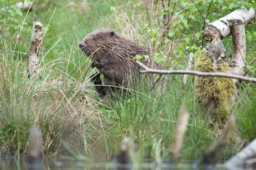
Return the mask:
[[230, 72], [232, 74], [243, 75], [247, 50], [245, 26], [255, 18], [255, 9], [250, 8], [250, 10], [247, 10], [246, 8], [241, 8], [208, 24], [204, 30], [204, 37], [209, 42], [227, 37], [230, 33], [232, 34], [233, 52], [230, 64]]

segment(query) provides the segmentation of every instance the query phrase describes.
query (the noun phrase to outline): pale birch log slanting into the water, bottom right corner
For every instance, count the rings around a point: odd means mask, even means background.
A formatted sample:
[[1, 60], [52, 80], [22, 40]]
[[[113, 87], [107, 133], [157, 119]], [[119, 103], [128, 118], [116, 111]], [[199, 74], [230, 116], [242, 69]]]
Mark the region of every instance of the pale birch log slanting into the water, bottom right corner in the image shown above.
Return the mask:
[[256, 156], [256, 139], [254, 139], [251, 144], [247, 145], [246, 148], [238, 152], [236, 156], [226, 161], [225, 166], [232, 170], [242, 169], [245, 161], [253, 156]]

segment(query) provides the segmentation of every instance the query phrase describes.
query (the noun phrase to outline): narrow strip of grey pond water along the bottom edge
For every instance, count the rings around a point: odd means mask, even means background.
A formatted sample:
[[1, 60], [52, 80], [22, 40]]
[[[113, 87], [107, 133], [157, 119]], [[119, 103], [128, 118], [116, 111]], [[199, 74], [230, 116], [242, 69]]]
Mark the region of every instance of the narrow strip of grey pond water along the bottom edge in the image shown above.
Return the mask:
[[0, 157], [0, 169], [3, 170], [167, 170], [167, 169], [207, 169], [207, 170], [224, 170], [223, 165], [217, 167], [197, 167], [196, 164], [157, 164], [143, 163], [134, 165], [122, 165], [116, 163], [88, 163], [84, 161], [61, 160], [61, 159], [44, 159], [27, 161], [24, 158]]

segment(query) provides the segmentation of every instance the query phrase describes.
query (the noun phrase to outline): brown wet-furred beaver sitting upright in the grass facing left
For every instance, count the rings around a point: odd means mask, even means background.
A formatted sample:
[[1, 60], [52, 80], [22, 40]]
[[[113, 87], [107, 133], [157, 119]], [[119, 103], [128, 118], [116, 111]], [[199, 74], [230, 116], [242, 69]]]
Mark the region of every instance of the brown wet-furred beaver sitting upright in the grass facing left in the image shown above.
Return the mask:
[[[139, 66], [133, 59], [137, 54], [148, 55], [148, 49], [119, 36], [108, 28], [92, 31], [79, 43], [79, 48], [92, 61], [91, 67], [96, 67], [103, 75], [104, 89], [96, 88], [101, 96], [106, 94], [109, 87], [127, 87], [137, 82]], [[91, 79], [96, 87], [102, 85], [99, 75]]]

